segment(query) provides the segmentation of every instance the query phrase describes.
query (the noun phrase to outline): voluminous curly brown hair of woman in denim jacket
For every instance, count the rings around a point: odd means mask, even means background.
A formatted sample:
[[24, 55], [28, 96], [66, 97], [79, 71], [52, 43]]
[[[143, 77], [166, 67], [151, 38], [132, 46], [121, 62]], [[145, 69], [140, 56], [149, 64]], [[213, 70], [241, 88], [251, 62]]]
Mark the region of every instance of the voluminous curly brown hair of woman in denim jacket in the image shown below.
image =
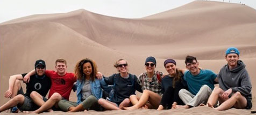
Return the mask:
[[91, 81], [95, 80], [96, 74], [98, 72], [97, 65], [94, 62], [94, 60], [91, 60], [89, 58], [84, 58], [76, 63], [75, 76], [76, 76], [77, 80], [82, 81], [84, 79], [85, 75], [83, 73], [83, 64], [88, 63], [88, 62], [91, 64], [91, 68], [93, 70], [93, 72], [91, 72], [91, 74], [90, 74]]

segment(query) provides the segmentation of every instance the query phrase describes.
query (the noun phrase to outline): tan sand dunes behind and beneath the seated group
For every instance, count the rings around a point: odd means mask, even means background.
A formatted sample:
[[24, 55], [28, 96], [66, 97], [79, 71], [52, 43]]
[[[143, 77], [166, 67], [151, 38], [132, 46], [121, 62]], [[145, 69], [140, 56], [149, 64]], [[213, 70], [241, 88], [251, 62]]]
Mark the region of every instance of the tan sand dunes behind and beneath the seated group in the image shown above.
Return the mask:
[[[3, 22], [0, 24], [0, 96], [8, 89], [9, 76], [29, 72], [37, 59], [46, 60], [47, 69], [54, 70], [55, 60], [64, 58], [68, 62], [68, 72], [73, 72], [78, 60], [89, 57], [96, 61], [99, 71], [108, 76], [116, 72], [112, 64], [119, 58], [127, 59], [130, 72], [139, 75], [145, 71], [147, 56], [157, 57], [157, 70], [166, 73], [162, 66], [166, 58], [176, 59], [177, 66], [184, 68], [184, 57], [193, 55], [199, 59], [200, 66], [218, 73], [226, 64], [226, 48], [232, 46], [240, 50], [240, 59], [245, 62], [251, 76], [255, 102], [255, 20], [256, 10], [246, 5], [195, 1], [139, 19], [103, 16], [80, 9], [68, 13], [36, 14]], [[70, 100], [76, 100], [74, 93]], [[7, 101], [2, 98], [0, 104]], [[125, 112], [248, 114], [250, 111], [231, 109], [216, 112], [200, 107], [161, 112]], [[123, 111], [104, 112], [121, 113]], [[89, 111], [88, 114], [102, 112]]]

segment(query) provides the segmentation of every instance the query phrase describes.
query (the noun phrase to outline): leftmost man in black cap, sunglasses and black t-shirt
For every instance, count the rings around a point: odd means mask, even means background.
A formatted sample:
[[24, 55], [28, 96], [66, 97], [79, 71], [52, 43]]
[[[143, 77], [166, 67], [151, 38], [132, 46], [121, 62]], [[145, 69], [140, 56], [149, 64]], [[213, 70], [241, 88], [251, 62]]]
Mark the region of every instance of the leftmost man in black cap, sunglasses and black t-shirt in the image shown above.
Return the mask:
[[[19, 80], [23, 80], [24, 74], [10, 76], [9, 89], [5, 92], [6, 98], [11, 98], [10, 101], [0, 107], [0, 112], [18, 106], [20, 111], [32, 111], [38, 109], [38, 106], [32, 102], [30, 94], [32, 91], [37, 91], [42, 96], [46, 96], [49, 88], [51, 88], [51, 79], [45, 75], [45, 61], [37, 60], [35, 62], [36, 74], [31, 77], [30, 82], [26, 83], [26, 93], [23, 93], [22, 86]], [[46, 101], [46, 98], [44, 98]]]

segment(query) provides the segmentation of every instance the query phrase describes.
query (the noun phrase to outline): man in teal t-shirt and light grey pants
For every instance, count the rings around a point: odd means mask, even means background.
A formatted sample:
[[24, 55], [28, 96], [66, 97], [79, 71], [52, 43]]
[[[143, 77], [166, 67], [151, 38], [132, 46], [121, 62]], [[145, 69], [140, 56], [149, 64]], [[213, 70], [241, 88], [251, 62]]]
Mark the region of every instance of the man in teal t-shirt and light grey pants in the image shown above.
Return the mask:
[[201, 103], [207, 102], [212, 90], [214, 82], [218, 81], [217, 75], [211, 70], [202, 70], [198, 68], [199, 63], [196, 57], [187, 56], [185, 60], [186, 68], [189, 71], [183, 71], [184, 80], [187, 81], [188, 90], [181, 89], [179, 96], [186, 105], [173, 105], [173, 108], [192, 108]]

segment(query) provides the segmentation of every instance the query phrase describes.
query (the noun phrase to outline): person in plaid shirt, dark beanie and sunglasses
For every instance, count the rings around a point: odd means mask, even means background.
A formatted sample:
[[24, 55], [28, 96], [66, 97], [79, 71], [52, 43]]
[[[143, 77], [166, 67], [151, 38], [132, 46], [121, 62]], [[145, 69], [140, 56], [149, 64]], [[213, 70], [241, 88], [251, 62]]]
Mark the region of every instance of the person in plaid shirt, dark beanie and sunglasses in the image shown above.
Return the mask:
[[157, 62], [154, 57], [150, 56], [145, 61], [145, 73], [141, 73], [138, 78], [138, 83], [143, 89], [141, 97], [136, 95], [130, 96], [130, 101], [133, 106], [124, 108], [134, 110], [138, 108], [157, 109], [162, 98], [161, 78], [163, 73], [155, 71]]

